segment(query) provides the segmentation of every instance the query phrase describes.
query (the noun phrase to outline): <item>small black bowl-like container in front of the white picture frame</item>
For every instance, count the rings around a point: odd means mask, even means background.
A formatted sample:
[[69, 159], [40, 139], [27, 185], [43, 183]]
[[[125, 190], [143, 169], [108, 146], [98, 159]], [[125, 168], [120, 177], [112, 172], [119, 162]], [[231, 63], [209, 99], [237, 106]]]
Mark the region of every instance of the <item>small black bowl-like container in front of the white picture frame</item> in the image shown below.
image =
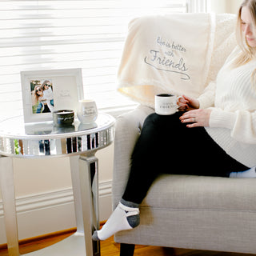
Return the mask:
[[74, 122], [74, 110], [56, 110], [53, 112], [54, 126], [72, 126]]

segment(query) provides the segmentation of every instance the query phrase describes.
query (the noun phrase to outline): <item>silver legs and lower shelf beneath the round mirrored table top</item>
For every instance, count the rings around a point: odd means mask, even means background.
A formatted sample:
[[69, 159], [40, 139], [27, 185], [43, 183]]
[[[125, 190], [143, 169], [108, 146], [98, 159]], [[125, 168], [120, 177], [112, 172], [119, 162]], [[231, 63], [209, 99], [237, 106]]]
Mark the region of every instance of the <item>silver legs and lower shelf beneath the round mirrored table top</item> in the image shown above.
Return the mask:
[[[99, 228], [98, 158], [94, 151], [70, 156], [77, 232], [69, 238], [30, 254], [22, 255], [82, 255], [100, 256], [100, 242], [92, 241]], [[14, 170], [12, 158], [0, 155], [0, 187], [10, 256], [19, 256], [18, 225], [15, 207]]]

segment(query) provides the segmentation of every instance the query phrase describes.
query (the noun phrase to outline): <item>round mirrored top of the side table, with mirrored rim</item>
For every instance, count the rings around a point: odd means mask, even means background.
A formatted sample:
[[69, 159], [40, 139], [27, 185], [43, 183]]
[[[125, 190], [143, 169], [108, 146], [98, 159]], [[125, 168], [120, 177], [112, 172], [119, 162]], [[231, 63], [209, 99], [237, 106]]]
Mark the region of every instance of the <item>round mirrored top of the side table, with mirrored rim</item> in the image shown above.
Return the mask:
[[53, 122], [24, 123], [23, 117], [0, 122], [0, 154], [13, 157], [49, 157], [82, 154], [101, 149], [114, 140], [115, 119], [98, 114], [95, 122], [56, 127]]

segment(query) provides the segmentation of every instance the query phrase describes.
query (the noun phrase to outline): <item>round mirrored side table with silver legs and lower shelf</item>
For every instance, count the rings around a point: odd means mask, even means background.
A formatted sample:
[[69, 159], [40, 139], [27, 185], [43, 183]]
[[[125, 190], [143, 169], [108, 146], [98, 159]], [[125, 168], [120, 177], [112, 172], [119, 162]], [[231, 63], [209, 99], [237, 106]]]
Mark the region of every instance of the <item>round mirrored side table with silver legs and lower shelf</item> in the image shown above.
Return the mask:
[[100, 243], [91, 235], [99, 228], [97, 150], [114, 141], [115, 119], [98, 114], [90, 125], [78, 121], [69, 127], [54, 127], [53, 122], [24, 124], [22, 117], [0, 122], [0, 187], [4, 209], [8, 253], [18, 250], [18, 225], [15, 207], [12, 158], [70, 157], [77, 232], [42, 250], [23, 255], [99, 256]]

